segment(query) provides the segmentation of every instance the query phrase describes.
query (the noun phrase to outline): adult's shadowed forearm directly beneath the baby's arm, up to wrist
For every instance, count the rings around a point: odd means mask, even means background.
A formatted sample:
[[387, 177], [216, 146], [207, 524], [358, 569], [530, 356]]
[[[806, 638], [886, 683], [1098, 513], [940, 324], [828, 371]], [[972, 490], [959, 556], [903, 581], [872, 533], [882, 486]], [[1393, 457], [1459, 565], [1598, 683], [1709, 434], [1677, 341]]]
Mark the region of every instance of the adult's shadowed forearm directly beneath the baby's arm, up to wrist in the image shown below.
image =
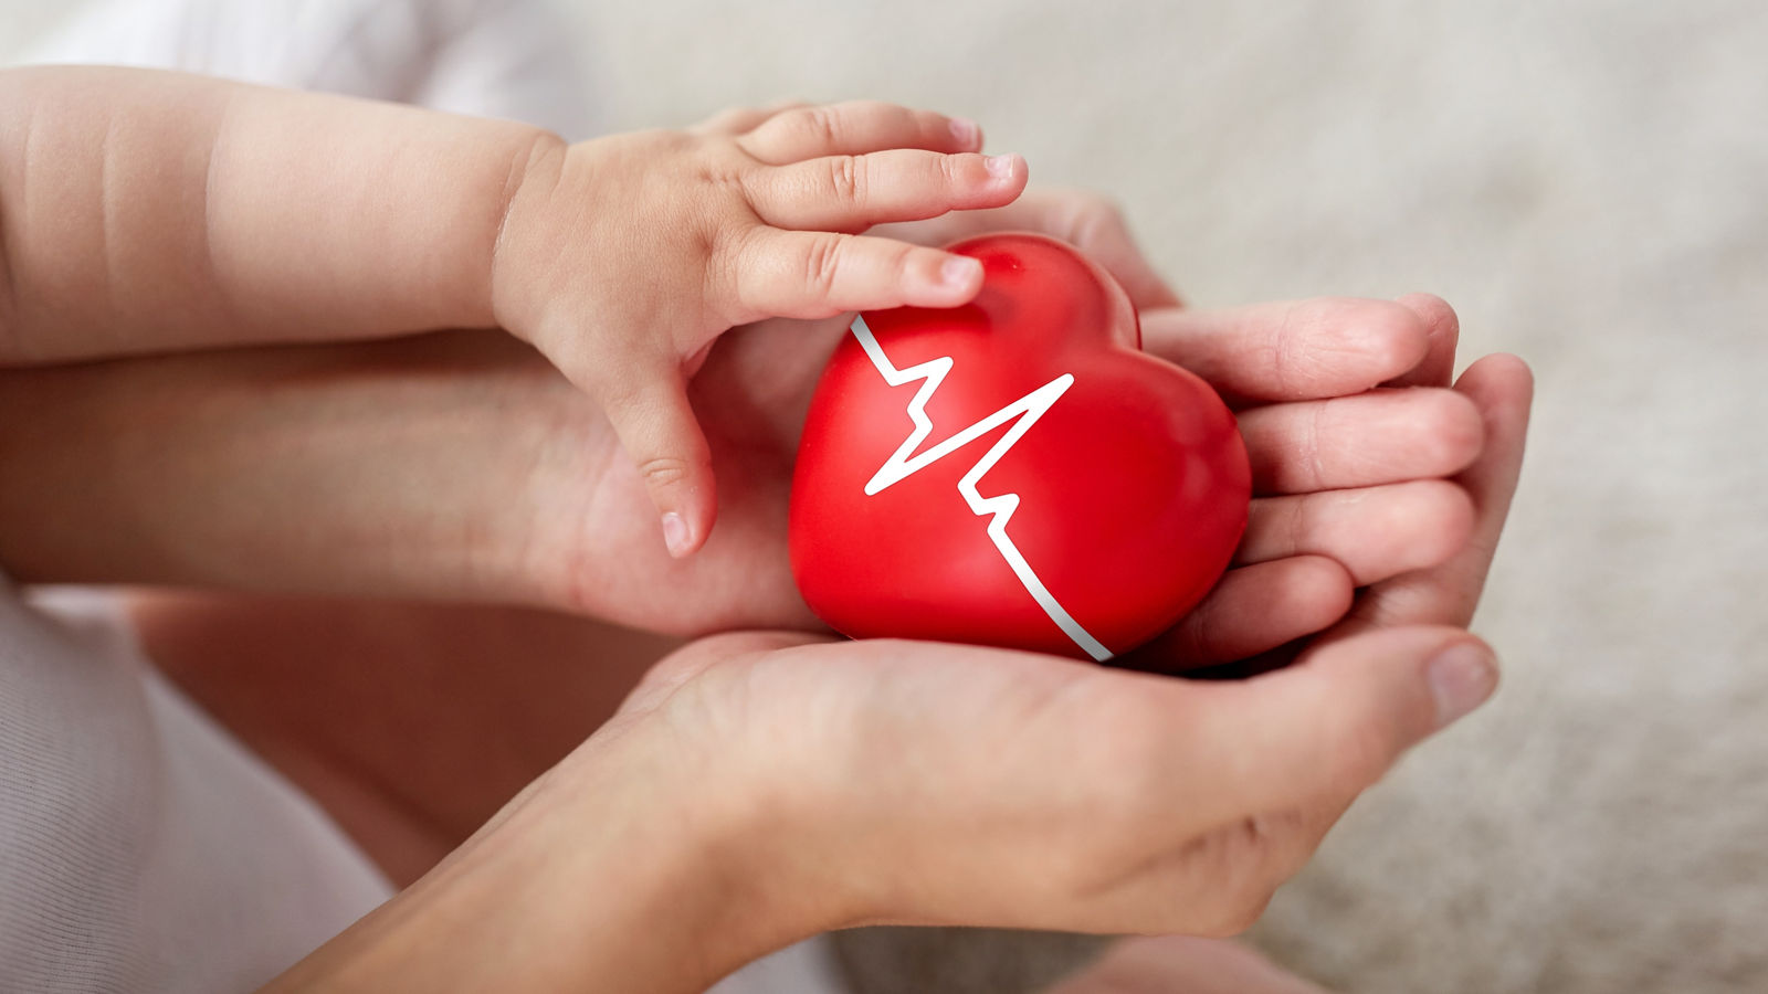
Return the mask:
[[[534, 430], [495, 398], [576, 398], [545, 366], [500, 364], [520, 352], [458, 334], [0, 373], [0, 566], [545, 603], [522, 561]], [[465, 449], [488, 455], [447, 456]]]

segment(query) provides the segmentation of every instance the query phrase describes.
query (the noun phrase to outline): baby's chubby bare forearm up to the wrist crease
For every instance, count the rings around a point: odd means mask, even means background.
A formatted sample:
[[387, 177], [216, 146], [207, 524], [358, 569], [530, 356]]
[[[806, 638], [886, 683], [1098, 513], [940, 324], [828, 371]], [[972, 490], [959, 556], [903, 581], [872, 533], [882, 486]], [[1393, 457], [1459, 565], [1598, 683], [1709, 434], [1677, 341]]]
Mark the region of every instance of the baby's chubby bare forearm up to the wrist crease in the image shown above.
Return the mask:
[[536, 127], [177, 73], [0, 73], [0, 364], [486, 327]]

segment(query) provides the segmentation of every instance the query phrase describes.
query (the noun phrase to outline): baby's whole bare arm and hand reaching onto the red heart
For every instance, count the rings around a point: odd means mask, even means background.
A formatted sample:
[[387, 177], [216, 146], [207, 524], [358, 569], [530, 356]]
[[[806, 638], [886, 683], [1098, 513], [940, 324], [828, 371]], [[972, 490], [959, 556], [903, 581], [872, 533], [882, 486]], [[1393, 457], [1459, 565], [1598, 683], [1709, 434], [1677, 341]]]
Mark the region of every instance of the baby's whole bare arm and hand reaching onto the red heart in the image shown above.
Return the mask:
[[672, 552], [713, 522], [684, 382], [732, 325], [956, 306], [972, 260], [857, 232], [1024, 161], [889, 104], [566, 145], [522, 124], [134, 69], [0, 74], [0, 366], [502, 325], [608, 410]]

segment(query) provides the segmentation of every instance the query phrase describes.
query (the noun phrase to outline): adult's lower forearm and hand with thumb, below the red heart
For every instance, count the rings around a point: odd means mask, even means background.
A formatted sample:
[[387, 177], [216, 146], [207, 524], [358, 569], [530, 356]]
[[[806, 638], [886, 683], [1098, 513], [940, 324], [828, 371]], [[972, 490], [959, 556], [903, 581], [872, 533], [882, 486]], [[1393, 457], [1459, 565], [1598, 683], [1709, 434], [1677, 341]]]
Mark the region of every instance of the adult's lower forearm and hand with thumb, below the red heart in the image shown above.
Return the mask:
[[1443, 626], [1347, 637], [1243, 683], [707, 638], [276, 989], [702, 990], [870, 921], [1234, 932], [1494, 679], [1490, 653]]

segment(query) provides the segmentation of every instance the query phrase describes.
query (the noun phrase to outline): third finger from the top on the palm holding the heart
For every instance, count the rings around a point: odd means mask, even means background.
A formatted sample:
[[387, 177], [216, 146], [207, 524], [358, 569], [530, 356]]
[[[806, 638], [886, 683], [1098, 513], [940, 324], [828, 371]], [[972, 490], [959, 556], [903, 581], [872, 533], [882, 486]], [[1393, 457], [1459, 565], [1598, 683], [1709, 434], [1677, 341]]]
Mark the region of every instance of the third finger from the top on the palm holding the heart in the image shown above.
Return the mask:
[[1328, 555], [1367, 587], [1446, 562], [1467, 541], [1473, 520], [1467, 492], [1444, 479], [1259, 497], [1234, 562]]

